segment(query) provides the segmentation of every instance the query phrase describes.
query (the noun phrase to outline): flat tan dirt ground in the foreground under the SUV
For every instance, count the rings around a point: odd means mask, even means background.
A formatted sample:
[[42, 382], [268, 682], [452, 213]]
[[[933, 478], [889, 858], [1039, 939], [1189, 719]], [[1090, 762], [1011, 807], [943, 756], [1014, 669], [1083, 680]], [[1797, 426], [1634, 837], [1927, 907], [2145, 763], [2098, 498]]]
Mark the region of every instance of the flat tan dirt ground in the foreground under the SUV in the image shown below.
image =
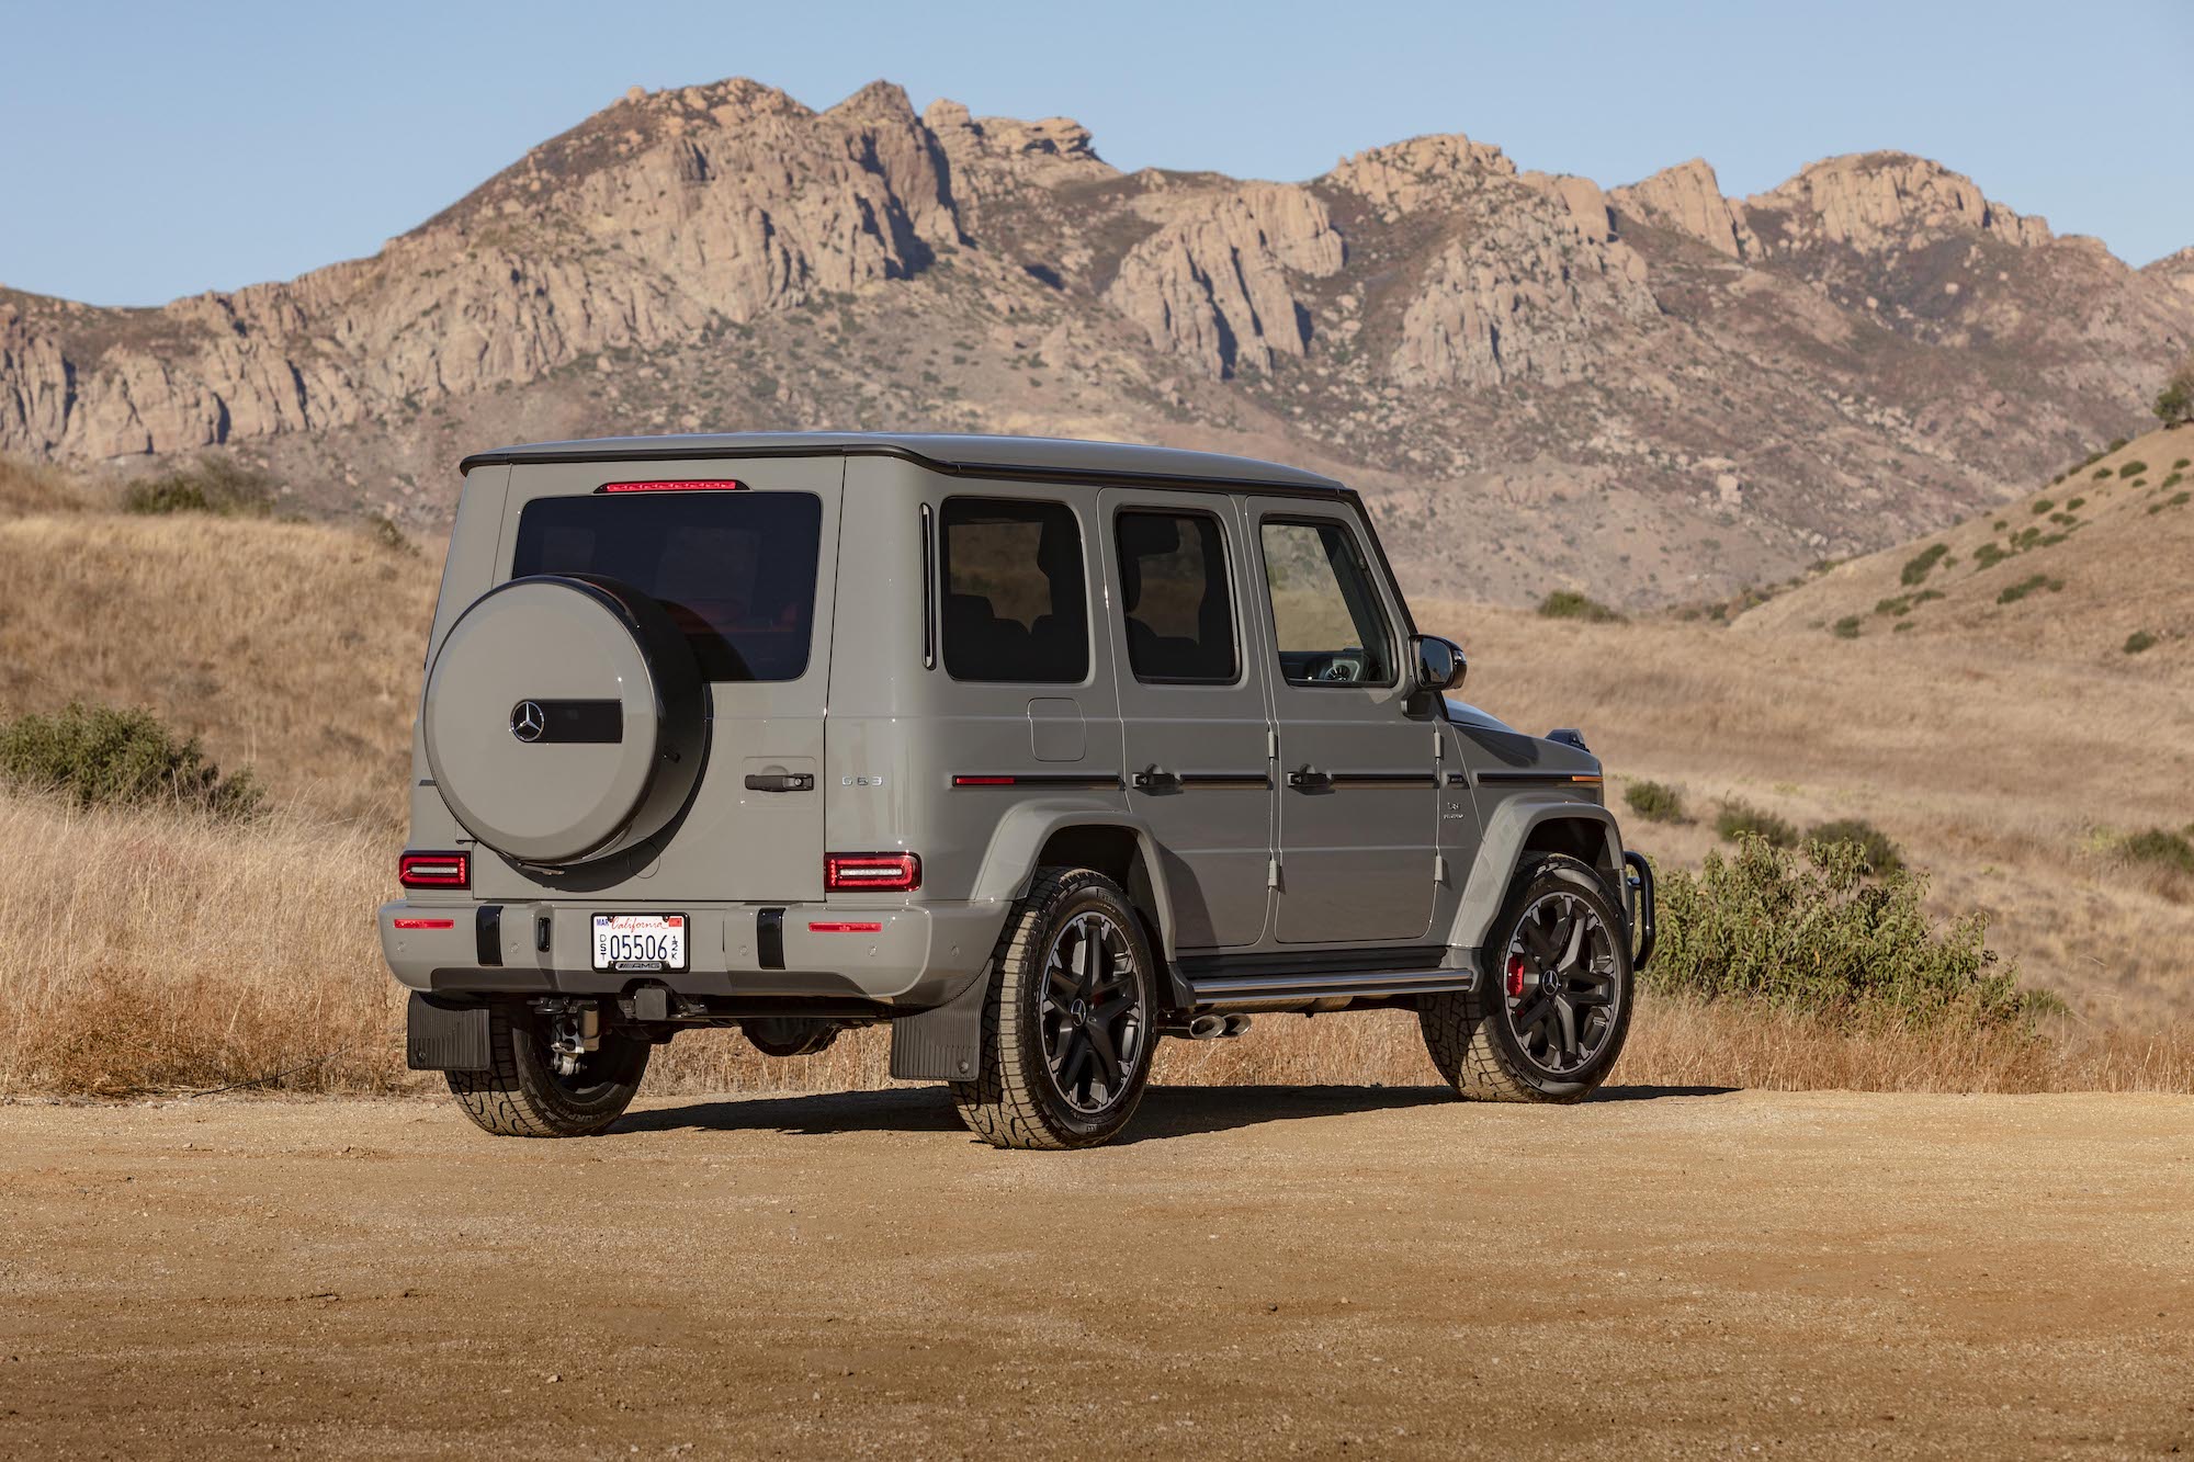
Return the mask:
[[0, 1453], [2194, 1451], [2194, 1100], [0, 1106]]

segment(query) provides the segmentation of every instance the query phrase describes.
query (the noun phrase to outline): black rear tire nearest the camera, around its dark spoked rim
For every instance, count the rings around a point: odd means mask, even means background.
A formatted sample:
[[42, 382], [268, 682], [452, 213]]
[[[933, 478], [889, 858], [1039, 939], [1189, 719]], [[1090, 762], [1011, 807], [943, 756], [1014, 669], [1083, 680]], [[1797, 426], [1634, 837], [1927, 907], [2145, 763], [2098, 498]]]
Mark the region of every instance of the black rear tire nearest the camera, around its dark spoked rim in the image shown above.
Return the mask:
[[[1047, 977], [1053, 940], [1066, 920], [1086, 911], [1106, 913], [1126, 933], [1141, 981], [1143, 1036], [1117, 1098], [1101, 1117], [1073, 1111], [1053, 1091], [1044, 1062], [1038, 997]], [[989, 994], [983, 1001], [983, 1051], [972, 1082], [952, 1082], [961, 1122], [994, 1148], [1093, 1148], [1119, 1135], [1143, 1100], [1156, 1047], [1156, 981], [1150, 940], [1128, 893], [1086, 867], [1038, 869], [992, 955]]]

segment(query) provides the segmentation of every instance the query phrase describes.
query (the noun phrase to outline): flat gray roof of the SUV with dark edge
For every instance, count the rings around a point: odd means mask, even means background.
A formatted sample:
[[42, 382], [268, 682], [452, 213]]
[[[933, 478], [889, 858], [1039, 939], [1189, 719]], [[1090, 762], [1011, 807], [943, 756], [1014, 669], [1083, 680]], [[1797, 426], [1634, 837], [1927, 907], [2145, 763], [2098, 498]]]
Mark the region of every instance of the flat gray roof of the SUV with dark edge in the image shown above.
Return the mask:
[[544, 461], [691, 461], [722, 457], [902, 457], [959, 476], [1040, 476], [1049, 481], [1196, 481], [1288, 492], [1347, 492], [1301, 468], [1255, 457], [1187, 452], [1126, 441], [1068, 437], [979, 437], [952, 432], [695, 432], [682, 437], [595, 437], [533, 441], [474, 452], [463, 472]]

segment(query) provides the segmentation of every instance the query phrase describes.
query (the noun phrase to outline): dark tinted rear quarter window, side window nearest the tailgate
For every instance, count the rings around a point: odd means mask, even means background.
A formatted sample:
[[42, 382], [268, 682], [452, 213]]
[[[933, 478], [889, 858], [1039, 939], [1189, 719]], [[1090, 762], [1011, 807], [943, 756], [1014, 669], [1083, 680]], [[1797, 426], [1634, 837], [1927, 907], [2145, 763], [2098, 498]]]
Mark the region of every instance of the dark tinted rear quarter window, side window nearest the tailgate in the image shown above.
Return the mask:
[[1090, 674], [1082, 529], [1064, 503], [946, 498], [937, 514], [946, 674], [1077, 685]]

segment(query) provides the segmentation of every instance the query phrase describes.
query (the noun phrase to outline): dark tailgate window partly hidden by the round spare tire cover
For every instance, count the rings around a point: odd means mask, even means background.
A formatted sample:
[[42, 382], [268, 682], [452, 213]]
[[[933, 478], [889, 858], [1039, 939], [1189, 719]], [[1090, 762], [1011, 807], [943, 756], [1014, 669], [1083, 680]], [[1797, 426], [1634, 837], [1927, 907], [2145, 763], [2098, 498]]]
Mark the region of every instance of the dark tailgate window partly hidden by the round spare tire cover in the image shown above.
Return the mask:
[[511, 577], [621, 580], [669, 610], [709, 681], [799, 681], [821, 540], [807, 492], [538, 498], [518, 516]]

